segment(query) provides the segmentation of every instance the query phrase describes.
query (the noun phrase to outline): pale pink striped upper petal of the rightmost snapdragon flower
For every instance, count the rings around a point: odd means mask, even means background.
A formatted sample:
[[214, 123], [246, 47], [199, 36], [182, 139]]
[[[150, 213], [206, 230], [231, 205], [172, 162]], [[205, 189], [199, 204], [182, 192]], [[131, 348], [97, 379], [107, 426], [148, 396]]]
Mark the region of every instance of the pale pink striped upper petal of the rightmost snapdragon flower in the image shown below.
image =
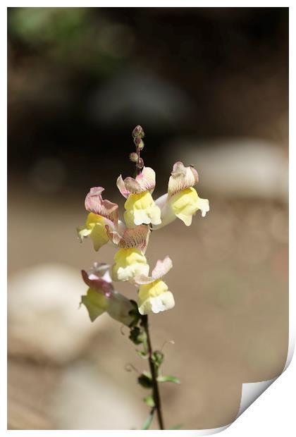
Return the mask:
[[171, 177], [168, 180], [168, 195], [171, 197], [177, 192], [193, 187], [198, 182], [198, 173], [193, 166], [185, 167], [183, 162], [173, 165]]

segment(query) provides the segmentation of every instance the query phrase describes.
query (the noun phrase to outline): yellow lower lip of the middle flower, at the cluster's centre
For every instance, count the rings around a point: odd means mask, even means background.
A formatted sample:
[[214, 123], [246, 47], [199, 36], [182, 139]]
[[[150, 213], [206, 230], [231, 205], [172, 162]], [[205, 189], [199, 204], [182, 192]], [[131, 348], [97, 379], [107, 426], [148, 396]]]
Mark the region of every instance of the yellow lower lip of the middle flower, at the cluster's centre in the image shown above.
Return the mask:
[[132, 281], [137, 275], [149, 273], [147, 259], [139, 249], [119, 249], [114, 261], [112, 269], [114, 281]]

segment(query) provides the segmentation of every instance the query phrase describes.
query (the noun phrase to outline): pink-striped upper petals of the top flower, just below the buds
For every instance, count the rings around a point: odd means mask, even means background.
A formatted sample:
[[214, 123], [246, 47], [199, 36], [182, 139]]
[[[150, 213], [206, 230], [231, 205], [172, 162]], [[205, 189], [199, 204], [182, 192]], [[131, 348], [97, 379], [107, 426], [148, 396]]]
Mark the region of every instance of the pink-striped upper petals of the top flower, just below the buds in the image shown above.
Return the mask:
[[155, 187], [155, 171], [150, 167], [144, 167], [136, 178], [125, 178], [122, 176], [117, 179], [117, 187], [123, 197], [127, 198], [130, 194], [139, 194], [140, 192], [153, 192]]

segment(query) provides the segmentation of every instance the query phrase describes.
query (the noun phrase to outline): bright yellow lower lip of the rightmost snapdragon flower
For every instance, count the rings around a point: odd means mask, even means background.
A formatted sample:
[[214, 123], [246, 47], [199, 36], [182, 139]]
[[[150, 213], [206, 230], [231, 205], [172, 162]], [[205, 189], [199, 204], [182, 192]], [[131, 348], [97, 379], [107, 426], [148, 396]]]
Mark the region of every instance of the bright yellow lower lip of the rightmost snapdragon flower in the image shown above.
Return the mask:
[[185, 188], [171, 198], [171, 208], [175, 216], [182, 220], [186, 226], [190, 226], [192, 216], [198, 209], [202, 210], [202, 217], [209, 211], [209, 200], [201, 199], [195, 188]]

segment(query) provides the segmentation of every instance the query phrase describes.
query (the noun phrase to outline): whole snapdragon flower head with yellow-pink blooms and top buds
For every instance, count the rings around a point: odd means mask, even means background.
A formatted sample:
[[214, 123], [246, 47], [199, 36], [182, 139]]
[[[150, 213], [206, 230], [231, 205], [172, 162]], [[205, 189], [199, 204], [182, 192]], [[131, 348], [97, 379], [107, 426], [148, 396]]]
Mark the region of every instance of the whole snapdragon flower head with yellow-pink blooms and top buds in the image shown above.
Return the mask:
[[209, 211], [209, 201], [197, 195], [194, 186], [198, 174], [193, 166], [184, 166], [178, 161], [173, 165], [168, 180], [168, 192], [154, 201], [155, 172], [145, 167], [140, 152], [144, 147], [144, 131], [137, 126], [132, 137], [136, 152], [130, 160], [136, 164], [135, 178], [119, 176], [117, 187], [125, 197], [124, 221], [118, 218], [118, 204], [103, 199], [103, 187], [92, 187], [85, 198], [88, 211], [84, 226], [78, 227], [78, 238], [82, 242], [91, 238], [94, 250], [111, 242], [117, 247], [114, 264], [96, 264], [82, 277], [90, 287], [82, 303], [94, 320], [99, 314], [108, 312], [113, 319], [130, 326], [132, 303], [113, 288], [113, 282], [129, 281], [137, 287], [137, 307], [140, 314], [159, 313], [175, 305], [173, 293], [163, 277], [172, 268], [169, 257], [156, 262], [149, 275], [149, 264], [145, 256], [152, 230], [166, 226], [176, 218], [190, 226], [192, 216], [200, 210], [202, 216]]

